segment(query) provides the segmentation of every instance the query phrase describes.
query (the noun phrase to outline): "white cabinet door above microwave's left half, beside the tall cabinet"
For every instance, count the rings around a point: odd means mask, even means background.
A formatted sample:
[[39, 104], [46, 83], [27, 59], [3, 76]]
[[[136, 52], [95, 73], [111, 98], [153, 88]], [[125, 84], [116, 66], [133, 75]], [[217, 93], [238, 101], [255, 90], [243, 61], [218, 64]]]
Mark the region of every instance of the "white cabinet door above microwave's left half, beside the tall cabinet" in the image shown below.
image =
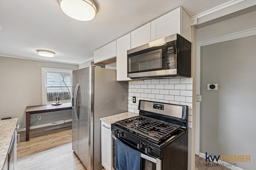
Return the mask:
[[150, 23], [147, 23], [146, 25], [143, 25], [131, 32], [131, 48], [144, 45], [150, 41]]

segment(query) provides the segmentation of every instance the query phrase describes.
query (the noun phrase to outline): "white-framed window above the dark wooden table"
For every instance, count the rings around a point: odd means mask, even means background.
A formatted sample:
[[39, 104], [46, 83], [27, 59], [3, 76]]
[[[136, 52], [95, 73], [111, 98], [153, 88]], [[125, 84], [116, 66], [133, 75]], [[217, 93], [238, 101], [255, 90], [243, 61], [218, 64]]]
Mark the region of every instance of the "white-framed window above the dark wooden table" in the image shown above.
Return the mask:
[[42, 101], [43, 104], [71, 102], [72, 70], [42, 68]]

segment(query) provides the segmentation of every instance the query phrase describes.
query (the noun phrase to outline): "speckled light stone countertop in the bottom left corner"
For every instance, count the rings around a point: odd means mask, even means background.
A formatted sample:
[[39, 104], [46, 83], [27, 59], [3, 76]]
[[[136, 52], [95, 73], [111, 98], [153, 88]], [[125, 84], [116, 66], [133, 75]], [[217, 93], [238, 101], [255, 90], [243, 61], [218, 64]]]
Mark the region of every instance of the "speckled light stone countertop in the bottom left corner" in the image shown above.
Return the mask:
[[0, 120], [0, 169], [3, 168], [18, 118]]

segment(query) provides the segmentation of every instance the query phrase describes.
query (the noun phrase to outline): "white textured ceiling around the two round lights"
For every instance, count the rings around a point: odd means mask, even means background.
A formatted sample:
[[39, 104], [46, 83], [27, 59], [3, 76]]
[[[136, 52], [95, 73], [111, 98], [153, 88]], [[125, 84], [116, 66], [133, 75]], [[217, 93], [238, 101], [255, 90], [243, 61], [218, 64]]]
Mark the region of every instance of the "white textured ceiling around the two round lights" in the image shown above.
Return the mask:
[[[94, 0], [96, 17], [74, 20], [58, 0], [0, 0], [0, 55], [81, 64], [93, 51], [180, 6], [195, 16], [229, 0]], [[36, 50], [54, 51], [53, 58]]]

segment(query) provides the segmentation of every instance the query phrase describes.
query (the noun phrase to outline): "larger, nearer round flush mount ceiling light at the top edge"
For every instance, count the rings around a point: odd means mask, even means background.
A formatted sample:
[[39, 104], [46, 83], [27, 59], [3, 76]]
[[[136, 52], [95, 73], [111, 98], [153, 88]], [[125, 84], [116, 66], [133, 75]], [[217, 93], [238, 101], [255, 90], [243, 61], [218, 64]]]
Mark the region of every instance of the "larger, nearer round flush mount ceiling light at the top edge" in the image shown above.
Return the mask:
[[62, 11], [75, 20], [92, 20], [97, 12], [93, 0], [59, 0], [59, 3]]

